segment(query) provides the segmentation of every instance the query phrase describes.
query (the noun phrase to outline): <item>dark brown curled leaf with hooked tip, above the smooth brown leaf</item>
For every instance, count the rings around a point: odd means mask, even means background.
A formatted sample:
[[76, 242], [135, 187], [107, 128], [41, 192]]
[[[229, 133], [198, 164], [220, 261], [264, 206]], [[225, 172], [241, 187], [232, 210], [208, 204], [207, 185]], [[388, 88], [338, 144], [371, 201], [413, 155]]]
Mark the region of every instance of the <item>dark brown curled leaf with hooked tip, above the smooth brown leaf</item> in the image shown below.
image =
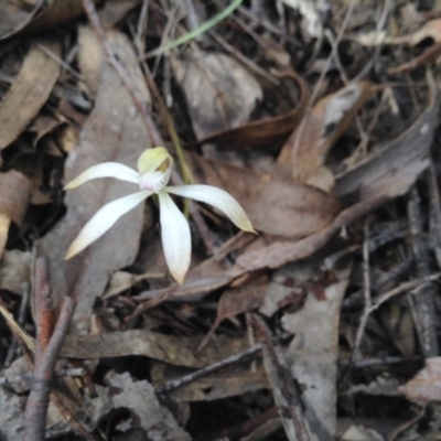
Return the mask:
[[284, 115], [251, 121], [235, 129], [213, 133], [200, 140], [196, 146], [215, 143], [223, 149], [243, 150], [245, 146], [268, 146], [284, 140], [302, 119], [310, 99], [310, 93], [306, 83], [294, 71], [281, 74], [280, 78], [292, 80], [299, 89], [299, 103], [292, 110]]

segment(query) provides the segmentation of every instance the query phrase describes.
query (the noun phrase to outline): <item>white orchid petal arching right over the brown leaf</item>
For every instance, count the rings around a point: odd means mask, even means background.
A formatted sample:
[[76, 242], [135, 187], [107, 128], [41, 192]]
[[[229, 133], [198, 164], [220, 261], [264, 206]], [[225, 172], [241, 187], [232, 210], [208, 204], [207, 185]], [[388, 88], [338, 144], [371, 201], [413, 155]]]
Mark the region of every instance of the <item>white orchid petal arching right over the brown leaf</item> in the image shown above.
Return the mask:
[[244, 208], [230, 194], [222, 189], [211, 185], [180, 185], [168, 186], [164, 190], [168, 193], [213, 205], [223, 212], [240, 229], [256, 233]]

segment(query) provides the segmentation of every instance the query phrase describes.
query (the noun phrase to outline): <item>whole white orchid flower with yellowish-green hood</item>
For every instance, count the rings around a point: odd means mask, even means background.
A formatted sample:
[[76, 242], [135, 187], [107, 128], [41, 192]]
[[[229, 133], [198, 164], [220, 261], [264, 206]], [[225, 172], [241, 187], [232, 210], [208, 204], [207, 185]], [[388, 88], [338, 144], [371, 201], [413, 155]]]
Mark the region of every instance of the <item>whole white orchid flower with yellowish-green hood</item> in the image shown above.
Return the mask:
[[190, 267], [192, 243], [185, 216], [174, 204], [170, 194], [205, 202], [218, 208], [240, 229], [256, 233], [244, 209], [227, 192], [211, 185], [166, 186], [173, 159], [163, 147], [146, 150], [138, 160], [138, 172], [118, 162], [104, 162], [87, 169], [69, 182], [65, 190], [75, 189], [96, 178], [116, 178], [132, 182], [139, 192], [120, 197], [101, 207], [80, 230], [69, 246], [66, 259], [83, 251], [103, 236], [123, 214], [135, 208], [152, 194], [157, 194], [160, 205], [162, 246], [170, 272], [179, 283], [183, 283]]

